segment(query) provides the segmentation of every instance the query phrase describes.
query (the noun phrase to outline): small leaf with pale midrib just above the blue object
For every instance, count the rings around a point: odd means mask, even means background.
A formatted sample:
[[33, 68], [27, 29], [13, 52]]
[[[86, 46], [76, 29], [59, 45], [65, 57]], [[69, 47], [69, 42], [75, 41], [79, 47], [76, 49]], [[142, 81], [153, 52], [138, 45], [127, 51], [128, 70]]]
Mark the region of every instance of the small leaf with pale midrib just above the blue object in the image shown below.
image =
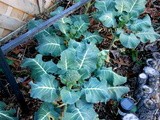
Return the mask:
[[[107, 93], [108, 95], [110, 95], [110, 99], [113, 99], [113, 100], [120, 100], [122, 95], [128, 92], [129, 92], [129, 88], [125, 86], [108, 86], [107, 87]], [[108, 100], [106, 100], [106, 102]]]

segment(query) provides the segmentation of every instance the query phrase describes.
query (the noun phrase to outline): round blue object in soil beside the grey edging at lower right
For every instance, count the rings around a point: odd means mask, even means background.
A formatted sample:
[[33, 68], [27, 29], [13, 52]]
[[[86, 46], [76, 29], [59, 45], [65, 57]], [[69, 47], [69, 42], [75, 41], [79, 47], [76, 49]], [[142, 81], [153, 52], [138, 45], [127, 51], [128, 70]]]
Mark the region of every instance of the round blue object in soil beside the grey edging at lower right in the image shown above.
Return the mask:
[[123, 98], [120, 101], [120, 110], [122, 112], [128, 113], [135, 107], [134, 101], [129, 98]]

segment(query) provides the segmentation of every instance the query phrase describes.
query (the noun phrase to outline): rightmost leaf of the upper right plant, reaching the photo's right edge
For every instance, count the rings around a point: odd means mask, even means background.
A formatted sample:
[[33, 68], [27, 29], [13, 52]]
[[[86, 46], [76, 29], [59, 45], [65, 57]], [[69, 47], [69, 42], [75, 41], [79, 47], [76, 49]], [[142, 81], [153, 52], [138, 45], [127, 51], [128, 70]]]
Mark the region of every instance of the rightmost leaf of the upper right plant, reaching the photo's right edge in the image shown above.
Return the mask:
[[154, 31], [153, 28], [146, 29], [144, 31], [140, 31], [136, 33], [136, 36], [139, 37], [140, 41], [146, 43], [148, 41], [154, 42], [160, 35]]

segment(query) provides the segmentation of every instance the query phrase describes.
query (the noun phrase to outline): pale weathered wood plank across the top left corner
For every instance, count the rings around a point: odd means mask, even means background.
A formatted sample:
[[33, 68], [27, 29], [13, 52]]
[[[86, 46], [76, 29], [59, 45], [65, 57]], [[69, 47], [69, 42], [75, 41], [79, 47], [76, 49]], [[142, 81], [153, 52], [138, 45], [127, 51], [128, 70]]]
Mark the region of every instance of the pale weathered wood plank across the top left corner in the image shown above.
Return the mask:
[[31, 3], [29, 0], [0, 0], [0, 2], [6, 3], [32, 15], [39, 13], [38, 5]]

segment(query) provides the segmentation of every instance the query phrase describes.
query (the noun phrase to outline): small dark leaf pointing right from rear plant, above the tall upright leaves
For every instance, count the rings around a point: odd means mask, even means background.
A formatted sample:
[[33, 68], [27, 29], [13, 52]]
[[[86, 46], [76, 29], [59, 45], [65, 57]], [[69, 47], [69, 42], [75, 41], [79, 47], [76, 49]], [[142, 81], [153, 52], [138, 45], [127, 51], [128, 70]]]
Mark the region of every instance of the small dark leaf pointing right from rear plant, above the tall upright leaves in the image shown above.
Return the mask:
[[84, 36], [83, 41], [88, 43], [100, 44], [103, 40], [103, 38], [99, 35], [98, 32], [94, 32], [94, 33], [85, 32], [83, 36]]

